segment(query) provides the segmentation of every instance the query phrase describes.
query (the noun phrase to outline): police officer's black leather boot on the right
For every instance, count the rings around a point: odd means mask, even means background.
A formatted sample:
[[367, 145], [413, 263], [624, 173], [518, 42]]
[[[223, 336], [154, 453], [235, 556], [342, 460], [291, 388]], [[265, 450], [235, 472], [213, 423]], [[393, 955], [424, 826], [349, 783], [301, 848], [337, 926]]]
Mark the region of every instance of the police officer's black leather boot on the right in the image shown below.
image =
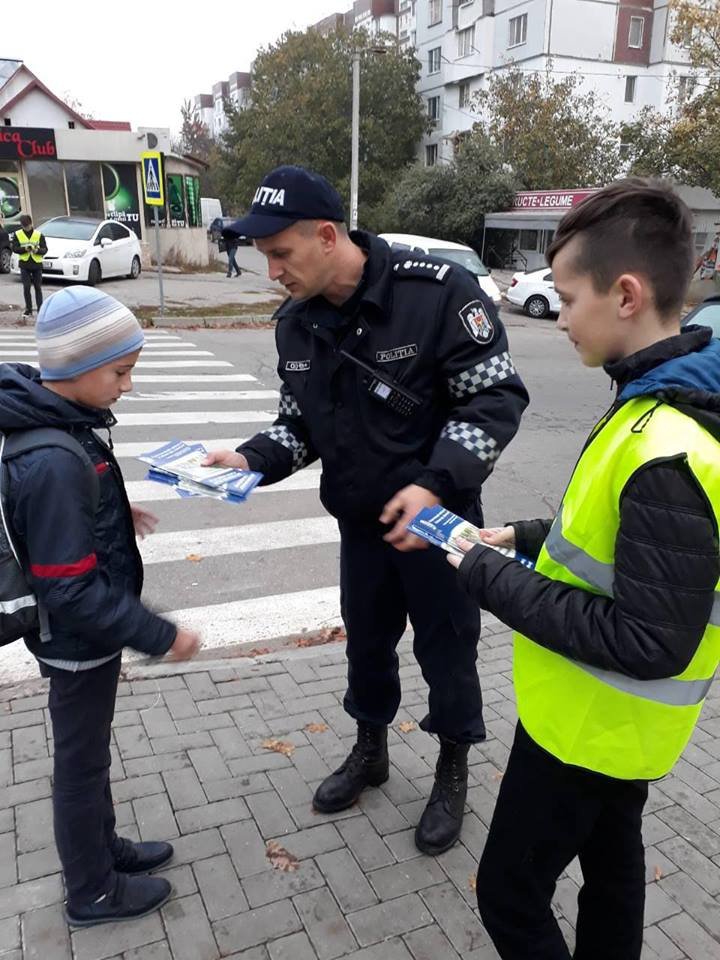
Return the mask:
[[423, 853], [444, 853], [460, 836], [467, 796], [469, 743], [440, 737], [440, 756], [428, 805], [415, 830], [415, 846]]

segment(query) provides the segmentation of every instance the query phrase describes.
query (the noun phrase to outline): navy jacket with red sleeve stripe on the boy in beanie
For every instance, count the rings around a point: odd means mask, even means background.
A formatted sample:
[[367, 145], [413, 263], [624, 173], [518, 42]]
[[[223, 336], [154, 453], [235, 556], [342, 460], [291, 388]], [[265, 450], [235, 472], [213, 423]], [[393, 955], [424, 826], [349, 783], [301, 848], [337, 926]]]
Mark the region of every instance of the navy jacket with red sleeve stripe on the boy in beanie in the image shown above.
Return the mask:
[[47, 447], [10, 460], [7, 520], [52, 639], [26, 637], [47, 660], [96, 660], [134, 647], [166, 653], [176, 628], [140, 603], [142, 562], [120, 469], [94, 433], [115, 423], [108, 410], [72, 403], [45, 389], [37, 370], [0, 365], [0, 430], [56, 427], [85, 449], [100, 483], [75, 454]]

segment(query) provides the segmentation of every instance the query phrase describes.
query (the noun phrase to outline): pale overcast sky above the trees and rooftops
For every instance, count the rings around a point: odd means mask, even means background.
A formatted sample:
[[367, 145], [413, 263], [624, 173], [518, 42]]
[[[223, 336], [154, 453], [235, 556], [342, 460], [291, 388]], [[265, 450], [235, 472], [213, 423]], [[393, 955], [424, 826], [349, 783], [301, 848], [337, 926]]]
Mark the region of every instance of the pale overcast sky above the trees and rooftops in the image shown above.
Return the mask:
[[[0, 38], [58, 96], [96, 119], [180, 127], [183, 100], [246, 71], [260, 47], [303, 30], [351, 0], [75, 0], [29, 8]], [[53, 12], [57, 10], [57, 13]], [[187, 11], [187, 12], [186, 12]]]

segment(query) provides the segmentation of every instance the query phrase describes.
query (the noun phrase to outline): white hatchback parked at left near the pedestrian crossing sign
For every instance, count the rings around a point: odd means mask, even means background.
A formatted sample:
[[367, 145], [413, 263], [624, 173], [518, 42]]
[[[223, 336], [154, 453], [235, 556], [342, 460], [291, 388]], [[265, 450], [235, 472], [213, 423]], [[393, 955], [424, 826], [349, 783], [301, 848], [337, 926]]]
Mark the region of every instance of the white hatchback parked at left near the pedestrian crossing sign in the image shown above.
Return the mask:
[[[140, 276], [140, 241], [122, 223], [89, 217], [53, 217], [38, 226], [47, 240], [43, 276], [91, 287], [107, 277]], [[10, 267], [20, 273], [15, 254]]]

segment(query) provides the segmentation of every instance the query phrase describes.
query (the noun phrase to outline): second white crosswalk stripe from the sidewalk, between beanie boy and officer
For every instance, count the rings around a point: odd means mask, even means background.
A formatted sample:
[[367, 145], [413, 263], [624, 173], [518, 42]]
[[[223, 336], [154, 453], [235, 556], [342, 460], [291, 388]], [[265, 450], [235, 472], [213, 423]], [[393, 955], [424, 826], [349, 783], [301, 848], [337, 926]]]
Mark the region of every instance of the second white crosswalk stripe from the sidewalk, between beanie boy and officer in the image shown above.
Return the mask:
[[[242, 511], [240, 504], [238, 510]], [[271, 520], [268, 523], [242, 524], [241, 520], [239, 513], [238, 523], [231, 527], [154, 533], [138, 544], [143, 563], [187, 561], [188, 555], [206, 558], [266, 553], [268, 550], [310, 547], [340, 540], [337, 520], [328, 516]]]

